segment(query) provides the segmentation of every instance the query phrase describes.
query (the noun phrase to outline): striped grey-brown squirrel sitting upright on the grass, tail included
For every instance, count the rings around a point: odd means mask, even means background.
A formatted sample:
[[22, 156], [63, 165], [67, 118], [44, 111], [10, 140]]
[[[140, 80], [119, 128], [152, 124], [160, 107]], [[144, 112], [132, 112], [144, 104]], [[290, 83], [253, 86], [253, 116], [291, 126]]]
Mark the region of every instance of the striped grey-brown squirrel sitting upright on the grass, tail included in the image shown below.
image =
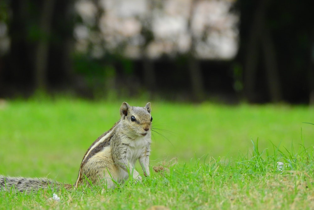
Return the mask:
[[130, 175], [135, 182], [142, 177], [134, 165], [139, 160], [144, 176], [149, 176], [149, 155], [153, 118], [150, 103], [145, 107], [130, 106], [123, 102], [121, 119], [103, 133], [86, 151], [79, 167], [75, 184], [63, 184], [46, 178], [6, 177], [0, 175], [0, 190], [38, 191], [50, 187], [59, 190], [78, 188], [80, 185], [104, 185], [114, 188]]

